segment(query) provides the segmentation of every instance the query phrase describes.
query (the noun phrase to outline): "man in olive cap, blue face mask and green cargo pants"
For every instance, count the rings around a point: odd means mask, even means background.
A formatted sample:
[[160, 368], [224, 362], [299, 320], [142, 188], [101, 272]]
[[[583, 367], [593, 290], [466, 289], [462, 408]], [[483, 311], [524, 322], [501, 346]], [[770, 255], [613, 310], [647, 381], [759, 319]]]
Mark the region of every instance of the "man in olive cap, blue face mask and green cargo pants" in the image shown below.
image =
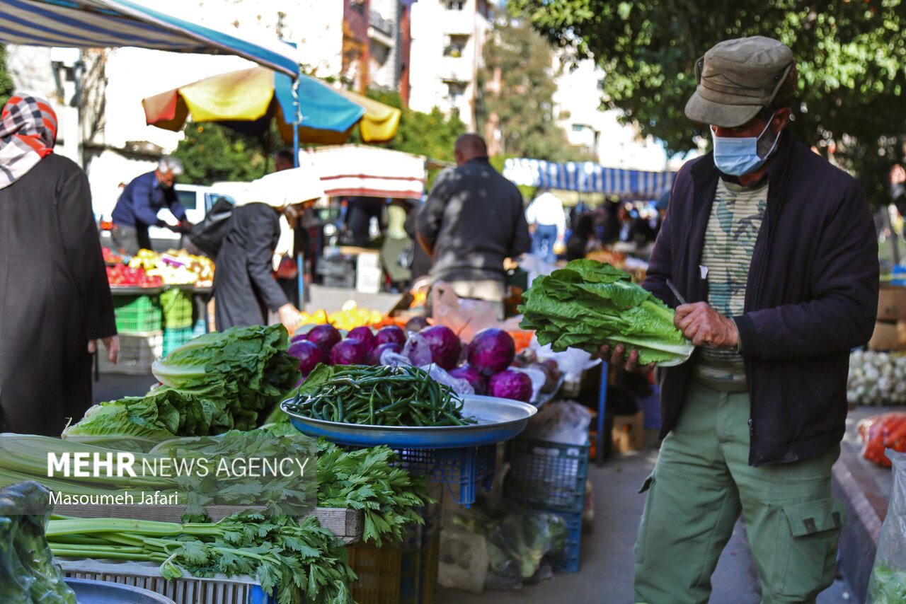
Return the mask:
[[[660, 375], [635, 598], [707, 602], [741, 513], [762, 602], [814, 602], [846, 522], [831, 466], [849, 351], [877, 312], [872, 216], [852, 177], [786, 131], [797, 75], [785, 44], [718, 43], [696, 77], [686, 115], [710, 125], [714, 150], [680, 169], [643, 287], [698, 348]], [[635, 350], [602, 353], [651, 369]]]

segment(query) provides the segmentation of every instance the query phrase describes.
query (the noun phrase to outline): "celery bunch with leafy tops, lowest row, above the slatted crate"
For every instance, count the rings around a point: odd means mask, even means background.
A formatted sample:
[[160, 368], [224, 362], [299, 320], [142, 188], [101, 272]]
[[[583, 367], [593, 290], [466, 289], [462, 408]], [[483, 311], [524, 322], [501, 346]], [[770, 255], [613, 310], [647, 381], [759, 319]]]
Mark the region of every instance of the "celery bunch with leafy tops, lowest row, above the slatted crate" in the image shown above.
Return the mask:
[[52, 520], [58, 556], [160, 563], [165, 579], [247, 574], [278, 604], [352, 604], [356, 579], [346, 549], [315, 516], [237, 513], [218, 523], [157, 523], [111, 518]]

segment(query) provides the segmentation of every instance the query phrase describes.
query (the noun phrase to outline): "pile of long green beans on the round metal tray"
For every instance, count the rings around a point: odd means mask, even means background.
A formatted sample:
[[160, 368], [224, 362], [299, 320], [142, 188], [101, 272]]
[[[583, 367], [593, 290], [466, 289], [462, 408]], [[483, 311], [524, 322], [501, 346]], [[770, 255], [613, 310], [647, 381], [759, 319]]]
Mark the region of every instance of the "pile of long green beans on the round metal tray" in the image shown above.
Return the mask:
[[333, 378], [285, 406], [304, 417], [371, 426], [466, 426], [462, 399], [417, 367], [334, 365]]

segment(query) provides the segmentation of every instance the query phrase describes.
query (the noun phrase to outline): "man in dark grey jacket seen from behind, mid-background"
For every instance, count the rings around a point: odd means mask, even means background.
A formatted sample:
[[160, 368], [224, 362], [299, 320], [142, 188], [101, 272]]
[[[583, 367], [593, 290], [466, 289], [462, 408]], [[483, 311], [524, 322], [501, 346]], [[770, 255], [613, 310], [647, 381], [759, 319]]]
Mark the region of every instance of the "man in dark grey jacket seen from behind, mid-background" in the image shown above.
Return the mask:
[[502, 319], [504, 259], [532, 247], [522, 194], [491, 167], [477, 134], [461, 135], [454, 155], [457, 168], [440, 173], [419, 212], [419, 244], [434, 259], [431, 283], [444, 281], [461, 298], [493, 302]]

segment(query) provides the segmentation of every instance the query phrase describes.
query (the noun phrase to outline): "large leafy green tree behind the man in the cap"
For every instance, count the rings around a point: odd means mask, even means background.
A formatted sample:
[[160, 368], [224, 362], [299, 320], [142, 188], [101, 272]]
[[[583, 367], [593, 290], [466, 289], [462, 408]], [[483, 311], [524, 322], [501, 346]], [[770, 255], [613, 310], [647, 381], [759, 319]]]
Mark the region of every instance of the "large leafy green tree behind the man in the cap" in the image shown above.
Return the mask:
[[695, 61], [721, 40], [768, 35], [793, 49], [799, 95], [791, 129], [886, 203], [887, 172], [906, 140], [906, 5], [901, 0], [509, 0], [553, 43], [603, 68], [604, 107], [624, 112], [670, 151], [707, 125], [683, 108]]

